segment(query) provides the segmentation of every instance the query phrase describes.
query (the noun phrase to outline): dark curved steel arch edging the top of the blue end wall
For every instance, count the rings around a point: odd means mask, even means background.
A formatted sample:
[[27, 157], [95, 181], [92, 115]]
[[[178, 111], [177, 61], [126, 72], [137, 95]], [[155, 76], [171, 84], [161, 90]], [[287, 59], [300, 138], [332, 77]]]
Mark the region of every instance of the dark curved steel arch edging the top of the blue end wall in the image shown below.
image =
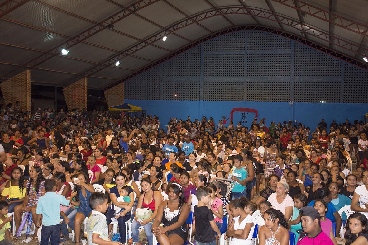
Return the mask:
[[313, 49], [316, 49], [316, 50], [318, 50], [322, 53], [325, 53], [325, 54], [328, 54], [328, 55], [333, 56], [335, 58], [338, 58], [339, 60], [345, 61], [345, 62], [353, 64], [357, 67], [364, 68], [365, 70], [368, 70], [368, 64], [367, 63], [362, 63], [358, 60], [347, 57], [344, 54], [340, 54], [340, 53], [338, 53], [334, 50], [329, 49], [328, 47], [324, 47], [322, 45], [316, 44], [316, 43], [311, 42], [311, 41], [309, 41], [305, 38], [302, 38], [300, 36], [297, 36], [297, 35], [294, 35], [294, 34], [291, 34], [291, 33], [287, 33], [285, 31], [282, 31], [282, 30], [279, 30], [279, 29], [274, 29], [274, 28], [269, 28], [269, 27], [264, 27], [264, 26], [253, 26], [253, 25], [252, 26], [237, 26], [237, 27], [234, 27], [234, 28], [228, 28], [228, 29], [224, 29], [222, 31], [216, 32], [216, 33], [212, 33], [209, 36], [206, 36], [206, 37], [198, 39], [198, 40], [196, 40], [196, 41], [194, 41], [194, 42], [192, 42], [188, 45], [185, 45], [184, 47], [181, 47], [180, 49], [176, 50], [175, 52], [173, 52], [169, 55], [166, 55], [164, 57], [161, 57], [159, 60], [157, 60], [155, 62], [152, 62], [152, 63], [146, 65], [145, 67], [143, 67], [143, 68], [141, 68], [141, 69], [139, 69], [135, 72], [132, 72], [131, 74], [129, 74], [127, 76], [124, 76], [124, 77], [116, 80], [115, 82], [113, 82], [109, 86], [106, 86], [105, 88], [103, 88], [103, 90], [113, 88], [114, 86], [116, 86], [118, 84], [121, 84], [122, 82], [125, 82], [125, 81], [127, 81], [127, 80], [129, 80], [129, 79], [145, 72], [145, 71], [148, 71], [148, 70], [160, 65], [161, 63], [163, 63], [167, 60], [170, 60], [171, 58], [174, 58], [174, 57], [178, 56], [179, 54], [184, 53], [185, 51], [187, 51], [189, 49], [192, 49], [193, 47], [196, 47], [196, 46], [200, 45], [203, 42], [206, 42], [206, 41], [211, 40], [213, 38], [217, 38], [219, 36], [226, 35], [226, 34], [229, 34], [229, 33], [232, 33], [232, 32], [237, 32], [237, 31], [263, 31], [263, 32], [273, 33], [275, 35], [282, 36], [284, 38], [288, 38], [288, 39], [294, 40], [298, 43], [307, 45], [307, 46], [309, 46]]

